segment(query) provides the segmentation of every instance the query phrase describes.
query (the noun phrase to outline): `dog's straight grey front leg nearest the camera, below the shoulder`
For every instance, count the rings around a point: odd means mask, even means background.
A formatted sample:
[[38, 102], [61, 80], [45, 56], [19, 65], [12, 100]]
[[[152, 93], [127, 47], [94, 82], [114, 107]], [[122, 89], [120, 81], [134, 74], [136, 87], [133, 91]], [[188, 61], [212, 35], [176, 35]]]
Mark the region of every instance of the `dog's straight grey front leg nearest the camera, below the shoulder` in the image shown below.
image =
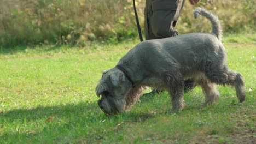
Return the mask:
[[172, 99], [172, 110], [170, 113], [180, 112], [184, 109], [184, 80], [179, 74], [168, 76], [168, 92]]

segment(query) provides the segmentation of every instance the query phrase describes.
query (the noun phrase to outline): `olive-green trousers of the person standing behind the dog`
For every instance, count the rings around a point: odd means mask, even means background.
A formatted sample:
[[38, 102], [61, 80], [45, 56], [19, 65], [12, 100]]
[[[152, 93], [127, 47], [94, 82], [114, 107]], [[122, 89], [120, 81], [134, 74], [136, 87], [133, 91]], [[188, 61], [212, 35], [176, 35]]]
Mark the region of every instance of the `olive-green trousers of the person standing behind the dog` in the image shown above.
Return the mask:
[[179, 0], [146, 0], [144, 9], [146, 40], [177, 35], [171, 21], [178, 3]]

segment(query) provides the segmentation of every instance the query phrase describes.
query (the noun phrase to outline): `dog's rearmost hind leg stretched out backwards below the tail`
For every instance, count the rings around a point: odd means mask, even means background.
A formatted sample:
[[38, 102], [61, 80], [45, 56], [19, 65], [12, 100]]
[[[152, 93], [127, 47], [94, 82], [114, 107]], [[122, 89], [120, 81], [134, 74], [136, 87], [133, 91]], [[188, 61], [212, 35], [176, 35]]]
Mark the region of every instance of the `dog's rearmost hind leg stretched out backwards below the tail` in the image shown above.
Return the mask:
[[217, 70], [212, 69], [206, 73], [206, 76], [210, 81], [221, 84], [221, 85], [231, 85], [236, 89], [236, 95], [240, 103], [245, 101], [245, 82], [240, 73], [228, 69], [224, 66], [223, 69]]

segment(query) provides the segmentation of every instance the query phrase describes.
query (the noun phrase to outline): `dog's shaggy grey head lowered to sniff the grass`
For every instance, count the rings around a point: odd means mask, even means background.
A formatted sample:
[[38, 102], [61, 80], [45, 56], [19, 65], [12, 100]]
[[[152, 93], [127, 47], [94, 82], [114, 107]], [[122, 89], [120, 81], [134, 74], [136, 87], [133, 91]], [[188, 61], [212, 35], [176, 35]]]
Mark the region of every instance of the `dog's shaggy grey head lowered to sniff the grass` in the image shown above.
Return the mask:
[[96, 94], [101, 99], [98, 106], [109, 115], [125, 112], [141, 95], [142, 88], [132, 88], [131, 82], [117, 68], [103, 72]]

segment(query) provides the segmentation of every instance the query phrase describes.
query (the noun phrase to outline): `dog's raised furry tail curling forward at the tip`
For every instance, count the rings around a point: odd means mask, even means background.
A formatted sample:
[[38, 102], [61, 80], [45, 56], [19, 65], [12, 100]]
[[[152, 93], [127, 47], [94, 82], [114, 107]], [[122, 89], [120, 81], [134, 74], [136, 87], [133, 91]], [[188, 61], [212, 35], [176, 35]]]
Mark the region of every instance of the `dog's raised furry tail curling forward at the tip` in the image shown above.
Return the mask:
[[212, 33], [216, 34], [217, 38], [222, 40], [222, 27], [220, 26], [218, 16], [213, 15], [211, 11], [202, 8], [196, 8], [193, 11], [194, 17], [197, 18], [199, 15], [206, 17], [212, 23]]

